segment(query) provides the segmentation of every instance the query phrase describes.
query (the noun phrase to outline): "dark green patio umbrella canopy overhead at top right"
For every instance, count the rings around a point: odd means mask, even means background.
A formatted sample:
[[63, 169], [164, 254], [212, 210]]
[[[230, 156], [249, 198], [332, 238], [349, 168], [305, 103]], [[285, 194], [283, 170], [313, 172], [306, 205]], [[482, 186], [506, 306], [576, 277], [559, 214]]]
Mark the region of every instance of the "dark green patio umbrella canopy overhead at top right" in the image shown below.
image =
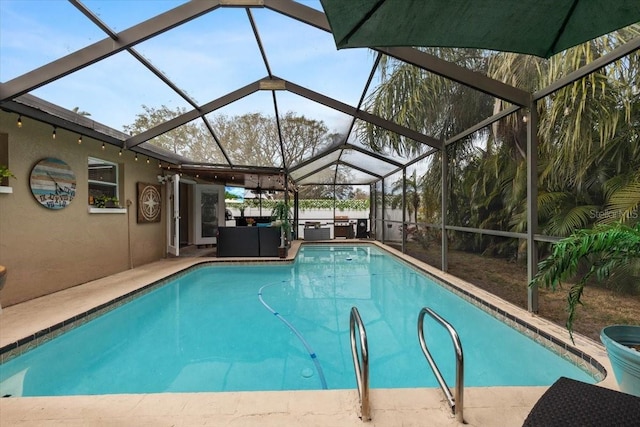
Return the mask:
[[321, 0], [338, 49], [466, 47], [549, 58], [640, 21], [640, 0]]

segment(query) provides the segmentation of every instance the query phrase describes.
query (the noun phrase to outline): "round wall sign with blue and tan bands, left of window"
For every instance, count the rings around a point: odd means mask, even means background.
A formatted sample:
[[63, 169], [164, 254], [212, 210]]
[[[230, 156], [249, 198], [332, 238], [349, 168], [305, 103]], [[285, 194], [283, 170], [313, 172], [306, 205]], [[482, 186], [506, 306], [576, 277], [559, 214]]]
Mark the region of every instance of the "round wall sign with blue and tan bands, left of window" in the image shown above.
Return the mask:
[[31, 192], [48, 209], [65, 208], [76, 196], [76, 176], [68, 164], [48, 157], [31, 170]]

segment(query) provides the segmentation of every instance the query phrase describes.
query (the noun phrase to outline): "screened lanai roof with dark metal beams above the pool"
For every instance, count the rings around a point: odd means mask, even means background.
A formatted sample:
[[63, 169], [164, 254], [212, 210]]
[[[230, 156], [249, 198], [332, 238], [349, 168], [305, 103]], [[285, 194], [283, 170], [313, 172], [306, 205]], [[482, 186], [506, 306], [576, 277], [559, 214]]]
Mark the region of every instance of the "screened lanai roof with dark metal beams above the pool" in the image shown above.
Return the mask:
[[[424, 157], [640, 48], [640, 39], [632, 40], [532, 94], [415, 48], [338, 50], [319, 1], [3, 0], [0, 7], [2, 109], [212, 180], [262, 188], [267, 179], [281, 185], [283, 173], [296, 185], [328, 183], [327, 177], [336, 184], [373, 183], [415, 158], [372, 152], [359, 141], [358, 124], [417, 141]], [[371, 114], [361, 107], [376, 89], [382, 55], [475, 88], [506, 107], [446, 141]], [[142, 106], [183, 113], [144, 132], [125, 133], [123, 126], [135, 121]], [[288, 163], [287, 131], [277, 121], [277, 137], [262, 143], [278, 146], [280, 154], [269, 164], [247, 164], [226, 152], [215, 117], [254, 112], [304, 115], [324, 121], [340, 137], [322, 152]], [[189, 123], [207, 129], [219, 161], [153, 145]], [[348, 182], [336, 182], [345, 176]]]

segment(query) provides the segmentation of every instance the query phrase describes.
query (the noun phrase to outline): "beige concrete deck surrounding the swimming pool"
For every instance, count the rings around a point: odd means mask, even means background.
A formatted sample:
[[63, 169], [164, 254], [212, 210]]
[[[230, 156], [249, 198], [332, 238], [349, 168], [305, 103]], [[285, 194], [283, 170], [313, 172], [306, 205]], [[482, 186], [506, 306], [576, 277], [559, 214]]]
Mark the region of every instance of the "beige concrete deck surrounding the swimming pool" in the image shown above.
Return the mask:
[[[342, 241], [344, 242], [344, 241]], [[338, 244], [341, 242], [330, 241]], [[357, 243], [346, 241], [345, 243]], [[380, 245], [376, 242], [373, 244]], [[300, 242], [293, 242], [289, 259]], [[389, 252], [472, 291], [528, 323], [567, 340], [563, 328], [519, 309], [454, 276]], [[210, 251], [210, 250], [209, 250]], [[280, 261], [262, 258], [261, 261]], [[55, 294], [2, 309], [0, 347], [85, 313], [171, 274], [205, 261], [247, 261], [239, 258], [180, 257], [98, 279]], [[607, 372], [611, 365], [602, 345], [576, 336], [575, 347], [591, 355]], [[523, 369], [541, 367], [524, 367]], [[543, 368], [543, 367], [542, 367]], [[425, 362], [424, 369], [429, 367]], [[617, 390], [613, 375], [599, 385]], [[467, 387], [464, 419], [469, 426], [521, 426], [547, 387]], [[0, 426], [453, 426], [459, 425], [439, 389], [373, 389], [372, 420], [363, 423], [357, 390], [276, 391], [234, 393], [161, 393], [64, 397], [0, 398]]]

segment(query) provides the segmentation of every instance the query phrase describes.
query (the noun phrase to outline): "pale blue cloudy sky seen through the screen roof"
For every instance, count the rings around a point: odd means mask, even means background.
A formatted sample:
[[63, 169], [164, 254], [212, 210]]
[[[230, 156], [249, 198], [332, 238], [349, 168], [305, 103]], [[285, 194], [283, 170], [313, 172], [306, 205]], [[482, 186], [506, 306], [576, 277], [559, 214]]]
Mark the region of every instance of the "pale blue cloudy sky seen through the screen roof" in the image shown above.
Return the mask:
[[[119, 32], [184, 3], [177, 0], [84, 0]], [[299, 1], [322, 10], [317, 0]], [[251, 13], [274, 75], [352, 106], [362, 95], [374, 55], [368, 49], [338, 51], [330, 33], [254, 8]], [[107, 35], [66, 0], [0, 0], [0, 81], [98, 42]], [[247, 13], [220, 8], [134, 46], [199, 104], [268, 75]], [[142, 106], [192, 107], [128, 52], [62, 77], [31, 92], [67, 109], [78, 108], [102, 124], [123, 130]], [[346, 115], [288, 92], [277, 92], [279, 113], [293, 111], [344, 131]], [[273, 115], [270, 92], [258, 92], [217, 110], [227, 116]]]

